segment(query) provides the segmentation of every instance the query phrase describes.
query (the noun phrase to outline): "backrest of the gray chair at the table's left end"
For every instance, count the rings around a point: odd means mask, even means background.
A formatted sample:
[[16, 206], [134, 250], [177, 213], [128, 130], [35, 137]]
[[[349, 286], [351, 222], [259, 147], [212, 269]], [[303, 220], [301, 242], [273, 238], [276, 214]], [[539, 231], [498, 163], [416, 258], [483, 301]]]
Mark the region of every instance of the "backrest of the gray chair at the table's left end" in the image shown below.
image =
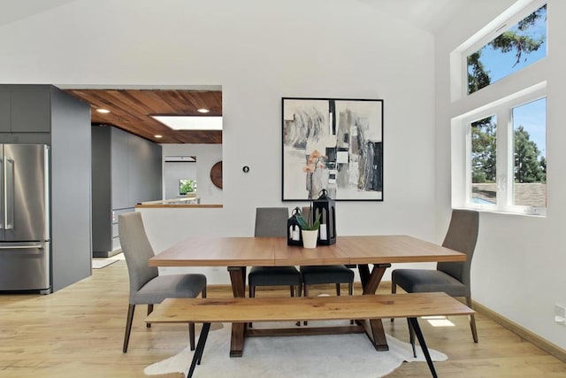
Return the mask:
[[140, 212], [127, 212], [118, 216], [118, 230], [122, 251], [126, 258], [130, 277], [130, 299], [149, 280], [159, 274], [157, 267], [148, 266], [148, 259], [155, 254], [143, 228]]

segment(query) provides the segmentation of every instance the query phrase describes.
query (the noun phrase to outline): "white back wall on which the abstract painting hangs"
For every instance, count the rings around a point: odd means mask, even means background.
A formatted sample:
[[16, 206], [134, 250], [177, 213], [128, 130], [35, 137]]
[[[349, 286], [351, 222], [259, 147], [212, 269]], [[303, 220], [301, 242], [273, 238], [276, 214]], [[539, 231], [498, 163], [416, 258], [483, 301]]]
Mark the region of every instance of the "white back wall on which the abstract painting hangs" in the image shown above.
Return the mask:
[[[222, 86], [224, 207], [144, 209], [156, 251], [187, 235], [253, 235], [257, 206], [294, 207], [280, 200], [282, 96], [385, 100], [385, 201], [339, 202], [339, 235], [440, 242], [447, 227], [434, 222], [433, 36], [372, 6], [77, 0], [0, 27], [0, 45], [0, 82]], [[226, 269], [209, 282], [221, 279]]]

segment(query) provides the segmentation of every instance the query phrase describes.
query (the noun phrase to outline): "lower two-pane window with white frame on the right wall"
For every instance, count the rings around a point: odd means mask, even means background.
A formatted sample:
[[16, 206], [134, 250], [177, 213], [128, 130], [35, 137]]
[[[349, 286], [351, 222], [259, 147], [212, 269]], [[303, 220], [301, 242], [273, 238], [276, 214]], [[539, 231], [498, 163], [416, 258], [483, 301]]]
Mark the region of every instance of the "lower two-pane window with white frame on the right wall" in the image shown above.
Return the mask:
[[465, 127], [464, 205], [501, 212], [544, 213], [547, 206], [546, 109], [542, 89], [505, 99]]

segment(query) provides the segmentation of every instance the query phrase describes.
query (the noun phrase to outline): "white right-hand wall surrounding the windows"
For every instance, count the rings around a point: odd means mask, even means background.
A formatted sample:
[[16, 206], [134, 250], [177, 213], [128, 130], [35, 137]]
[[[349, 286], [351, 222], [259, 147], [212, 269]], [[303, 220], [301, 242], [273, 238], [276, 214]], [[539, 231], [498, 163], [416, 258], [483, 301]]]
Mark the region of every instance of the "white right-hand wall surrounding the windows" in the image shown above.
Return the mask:
[[[436, 48], [437, 204], [439, 222], [450, 212], [450, 116], [462, 104], [450, 102], [448, 54], [504, 11], [512, 0], [470, 6], [441, 30]], [[471, 295], [481, 305], [551, 343], [566, 348], [566, 328], [554, 321], [556, 303], [566, 305], [566, 150], [563, 106], [566, 76], [566, 2], [548, 0], [547, 19], [547, 217], [482, 212], [471, 271]], [[462, 103], [462, 102], [460, 102]], [[479, 329], [481, 339], [481, 329]], [[480, 341], [481, 343], [481, 341]]]

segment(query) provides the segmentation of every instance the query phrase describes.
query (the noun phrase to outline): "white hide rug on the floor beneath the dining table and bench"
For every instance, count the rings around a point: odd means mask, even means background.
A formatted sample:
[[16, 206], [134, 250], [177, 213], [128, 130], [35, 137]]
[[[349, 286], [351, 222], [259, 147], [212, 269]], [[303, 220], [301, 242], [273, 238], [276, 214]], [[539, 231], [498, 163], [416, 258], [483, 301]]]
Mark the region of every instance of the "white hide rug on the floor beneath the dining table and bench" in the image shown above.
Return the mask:
[[[309, 326], [328, 326], [329, 323], [310, 321]], [[193, 374], [195, 378], [378, 378], [393, 372], [403, 361], [425, 361], [418, 344], [415, 359], [409, 343], [387, 335], [389, 351], [376, 351], [364, 334], [249, 337], [244, 345], [243, 357], [231, 359], [228, 356], [230, 324], [212, 331], [214, 327], [212, 325], [204, 347], [202, 363], [196, 366]], [[254, 323], [254, 328], [266, 327], [272, 328], [273, 323]], [[294, 324], [285, 327], [294, 327]], [[200, 330], [197, 336], [199, 333]], [[447, 359], [440, 351], [429, 351], [433, 361]], [[187, 347], [169, 359], [147, 366], [144, 373], [187, 374], [192, 356], [193, 351]]]

